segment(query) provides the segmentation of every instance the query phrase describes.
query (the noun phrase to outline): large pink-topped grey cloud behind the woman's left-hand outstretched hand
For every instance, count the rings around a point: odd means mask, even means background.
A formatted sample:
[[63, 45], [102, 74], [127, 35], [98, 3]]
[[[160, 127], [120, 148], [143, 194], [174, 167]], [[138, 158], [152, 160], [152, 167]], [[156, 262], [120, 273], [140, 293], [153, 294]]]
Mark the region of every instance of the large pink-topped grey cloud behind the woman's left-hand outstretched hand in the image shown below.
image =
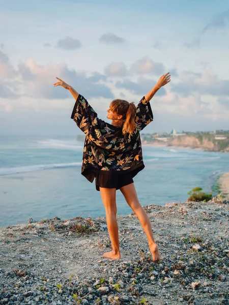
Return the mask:
[[66, 64], [41, 66], [33, 59], [27, 59], [25, 64], [20, 65], [19, 71], [26, 87], [24, 95], [27, 96], [45, 99], [69, 98], [68, 90], [53, 86], [57, 81], [55, 77], [59, 77], [70, 85], [76, 83], [77, 88], [87, 97], [113, 98], [110, 88], [98, 83], [106, 80], [106, 77], [98, 72], [88, 76], [85, 72], [78, 73], [74, 69], [69, 69]]

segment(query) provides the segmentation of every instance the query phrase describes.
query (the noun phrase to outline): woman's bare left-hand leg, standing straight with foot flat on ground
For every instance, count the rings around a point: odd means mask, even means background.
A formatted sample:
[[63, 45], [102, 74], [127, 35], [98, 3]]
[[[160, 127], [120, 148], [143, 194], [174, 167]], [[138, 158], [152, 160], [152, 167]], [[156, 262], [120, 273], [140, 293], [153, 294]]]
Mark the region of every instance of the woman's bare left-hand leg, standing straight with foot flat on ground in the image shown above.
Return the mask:
[[106, 211], [106, 223], [110, 236], [112, 251], [103, 254], [106, 258], [119, 259], [121, 258], [119, 249], [119, 229], [116, 219], [116, 189], [100, 188], [102, 202]]

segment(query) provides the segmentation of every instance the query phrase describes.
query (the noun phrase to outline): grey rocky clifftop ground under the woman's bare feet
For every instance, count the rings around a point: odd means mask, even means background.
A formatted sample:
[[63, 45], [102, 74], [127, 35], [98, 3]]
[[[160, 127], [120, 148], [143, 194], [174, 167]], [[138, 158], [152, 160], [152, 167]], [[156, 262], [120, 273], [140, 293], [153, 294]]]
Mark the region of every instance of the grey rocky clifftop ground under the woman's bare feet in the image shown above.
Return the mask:
[[144, 207], [162, 260], [135, 215], [118, 216], [120, 260], [103, 258], [105, 218], [0, 228], [0, 304], [229, 304], [229, 201]]

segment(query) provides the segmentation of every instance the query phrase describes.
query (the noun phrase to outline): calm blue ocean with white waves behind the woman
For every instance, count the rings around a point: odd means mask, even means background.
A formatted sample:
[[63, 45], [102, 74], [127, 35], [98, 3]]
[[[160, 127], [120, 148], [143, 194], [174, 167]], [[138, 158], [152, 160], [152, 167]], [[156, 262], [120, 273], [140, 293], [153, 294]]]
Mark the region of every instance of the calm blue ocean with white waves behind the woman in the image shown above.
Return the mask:
[[[0, 136], [0, 226], [60, 217], [104, 217], [95, 180], [81, 175], [83, 142], [76, 136]], [[134, 178], [141, 205], [184, 202], [187, 192], [210, 192], [229, 171], [229, 155], [142, 145], [145, 169]], [[132, 212], [120, 190], [117, 214]]]

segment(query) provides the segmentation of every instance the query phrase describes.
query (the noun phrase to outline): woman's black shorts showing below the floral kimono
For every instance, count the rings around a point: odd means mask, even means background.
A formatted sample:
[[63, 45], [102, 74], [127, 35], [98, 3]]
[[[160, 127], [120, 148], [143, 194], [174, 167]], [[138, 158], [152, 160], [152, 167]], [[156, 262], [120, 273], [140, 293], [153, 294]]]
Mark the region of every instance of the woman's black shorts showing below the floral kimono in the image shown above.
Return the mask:
[[99, 191], [99, 187], [108, 189], [116, 188], [116, 190], [119, 190], [120, 188], [133, 183], [131, 173], [112, 175], [96, 173], [95, 178], [97, 191]]

